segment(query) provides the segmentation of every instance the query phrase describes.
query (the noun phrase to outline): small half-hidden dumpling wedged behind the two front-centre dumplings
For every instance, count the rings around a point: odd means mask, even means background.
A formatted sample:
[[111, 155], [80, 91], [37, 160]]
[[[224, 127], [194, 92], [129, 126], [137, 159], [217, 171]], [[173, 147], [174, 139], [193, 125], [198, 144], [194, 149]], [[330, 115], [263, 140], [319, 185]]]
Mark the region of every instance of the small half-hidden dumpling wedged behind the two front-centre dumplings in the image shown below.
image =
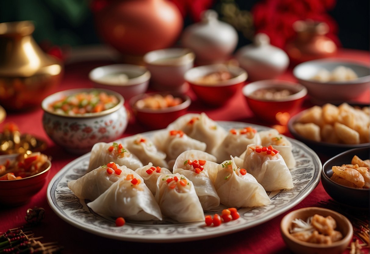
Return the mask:
[[155, 195], [155, 191], [157, 191], [157, 180], [162, 174], [172, 174], [168, 168], [162, 168], [159, 166], [153, 166], [152, 163], [149, 163], [146, 166], [138, 168], [135, 170], [139, 176], [144, 179], [144, 183], [147, 185], [149, 190]]

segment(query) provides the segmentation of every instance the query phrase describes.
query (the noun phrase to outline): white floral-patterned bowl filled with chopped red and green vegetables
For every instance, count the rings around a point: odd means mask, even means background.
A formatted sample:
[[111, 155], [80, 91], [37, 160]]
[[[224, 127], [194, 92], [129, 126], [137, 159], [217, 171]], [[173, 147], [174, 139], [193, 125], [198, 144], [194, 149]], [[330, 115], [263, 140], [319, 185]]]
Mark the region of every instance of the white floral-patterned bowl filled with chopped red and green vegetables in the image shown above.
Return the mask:
[[46, 97], [43, 127], [55, 144], [83, 154], [97, 142], [109, 143], [127, 127], [121, 94], [105, 89], [71, 89]]

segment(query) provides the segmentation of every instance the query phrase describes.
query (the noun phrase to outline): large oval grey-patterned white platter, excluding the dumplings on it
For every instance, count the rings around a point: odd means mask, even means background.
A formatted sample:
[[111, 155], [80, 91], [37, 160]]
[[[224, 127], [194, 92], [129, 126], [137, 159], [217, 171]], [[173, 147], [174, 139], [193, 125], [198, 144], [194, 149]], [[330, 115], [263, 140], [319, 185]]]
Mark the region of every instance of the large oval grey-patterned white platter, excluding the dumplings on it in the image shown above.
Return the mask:
[[[268, 127], [255, 124], [218, 121], [226, 130], [252, 126], [257, 131]], [[156, 131], [141, 133], [150, 138]], [[124, 138], [121, 139], [122, 141]], [[319, 183], [322, 164], [317, 154], [300, 141], [289, 138], [293, 144], [296, 167], [291, 171], [294, 187], [289, 190], [268, 192], [272, 203], [261, 207], [238, 208], [240, 218], [218, 227], [207, 227], [204, 222], [178, 223], [164, 218], [162, 221], [126, 221], [123, 227], [115, 226], [115, 218], [102, 216], [92, 211], [68, 188], [67, 182], [83, 176], [87, 170], [90, 153], [87, 153], [64, 166], [50, 181], [47, 188], [47, 201], [51, 209], [64, 221], [92, 234], [102, 237], [146, 242], [174, 243], [235, 233], [269, 221], [302, 201]], [[205, 211], [205, 214], [221, 214], [223, 205]]]

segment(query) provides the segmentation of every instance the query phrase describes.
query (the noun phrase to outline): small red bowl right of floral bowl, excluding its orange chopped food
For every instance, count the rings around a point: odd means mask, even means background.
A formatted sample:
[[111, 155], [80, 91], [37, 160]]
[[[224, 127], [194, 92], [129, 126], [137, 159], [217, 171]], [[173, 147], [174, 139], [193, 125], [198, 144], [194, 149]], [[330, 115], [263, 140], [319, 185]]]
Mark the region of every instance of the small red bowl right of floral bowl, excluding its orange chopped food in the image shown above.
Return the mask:
[[[151, 108], [140, 108], [136, 105], [138, 100], [143, 98], [153, 96], [155, 94], [161, 94], [165, 96], [166, 94], [172, 94], [174, 97], [179, 97], [182, 99], [182, 103], [174, 107], [161, 108], [161, 109], [151, 109]], [[129, 101], [132, 111], [136, 119], [146, 126], [152, 129], [163, 129], [168, 126], [168, 124], [175, 121], [178, 117], [184, 115], [191, 104], [191, 99], [189, 96], [177, 93], [147, 93], [140, 94], [131, 98]]]

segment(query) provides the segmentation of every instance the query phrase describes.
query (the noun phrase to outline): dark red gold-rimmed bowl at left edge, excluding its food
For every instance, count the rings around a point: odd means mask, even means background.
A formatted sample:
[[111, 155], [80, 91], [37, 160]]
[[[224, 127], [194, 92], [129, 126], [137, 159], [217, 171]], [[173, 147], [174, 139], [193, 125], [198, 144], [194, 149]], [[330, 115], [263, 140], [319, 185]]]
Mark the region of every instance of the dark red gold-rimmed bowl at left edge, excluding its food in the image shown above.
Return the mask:
[[[18, 154], [0, 156], [0, 164], [7, 159], [13, 160]], [[47, 161], [46, 170], [30, 177], [11, 181], [0, 181], [0, 206], [17, 206], [27, 203], [33, 195], [38, 193], [48, 181], [51, 162]]]

